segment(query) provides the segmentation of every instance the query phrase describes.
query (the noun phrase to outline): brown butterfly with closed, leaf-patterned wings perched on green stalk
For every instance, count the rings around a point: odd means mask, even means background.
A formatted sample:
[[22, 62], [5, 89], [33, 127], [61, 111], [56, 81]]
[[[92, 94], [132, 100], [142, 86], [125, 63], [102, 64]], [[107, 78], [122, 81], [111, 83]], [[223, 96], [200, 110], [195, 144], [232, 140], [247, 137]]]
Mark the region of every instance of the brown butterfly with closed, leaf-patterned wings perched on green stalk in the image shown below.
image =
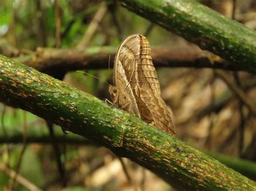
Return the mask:
[[174, 135], [175, 127], [160, 96], [160, 86], [150, 52], [146, 37], [141, 34], [126, 37], [114, 59], [114, 86], [110, 86], [109, 91], [116, 107]]

